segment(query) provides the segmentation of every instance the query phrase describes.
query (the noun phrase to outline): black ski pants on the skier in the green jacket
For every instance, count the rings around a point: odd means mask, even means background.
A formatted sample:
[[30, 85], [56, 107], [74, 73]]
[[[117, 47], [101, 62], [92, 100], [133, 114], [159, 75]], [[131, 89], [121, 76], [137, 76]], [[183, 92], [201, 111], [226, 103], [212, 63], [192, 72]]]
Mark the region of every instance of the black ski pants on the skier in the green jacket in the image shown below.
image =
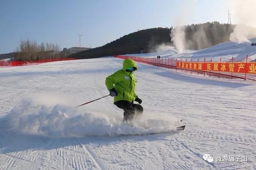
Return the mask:
[[143, 107], [139, 104], [133, 104], [127, 100], [119, 100], [114, 102], [114, 105], [120, 109], [124, 109], [124, 121], [130, 121], [133, 119], [134, 115], [141, 115], [143, 113]]

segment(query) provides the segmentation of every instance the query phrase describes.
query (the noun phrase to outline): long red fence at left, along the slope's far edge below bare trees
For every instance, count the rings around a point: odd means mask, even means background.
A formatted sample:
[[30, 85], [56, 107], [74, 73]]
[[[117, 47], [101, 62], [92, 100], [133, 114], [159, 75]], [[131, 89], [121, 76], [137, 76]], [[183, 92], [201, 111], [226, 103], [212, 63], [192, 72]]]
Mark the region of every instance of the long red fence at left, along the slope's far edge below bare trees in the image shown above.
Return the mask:
[[76, 60], [76, 59], [63, 58], [63, 59], [44, 59], [44, 60], [36, 60], [36, 61], [0, 61], [0, 66], [25, 66], [25, 65], [48, 63], [48, 62], [54, 62], [54, 61], [67, 61], [67, 60]]

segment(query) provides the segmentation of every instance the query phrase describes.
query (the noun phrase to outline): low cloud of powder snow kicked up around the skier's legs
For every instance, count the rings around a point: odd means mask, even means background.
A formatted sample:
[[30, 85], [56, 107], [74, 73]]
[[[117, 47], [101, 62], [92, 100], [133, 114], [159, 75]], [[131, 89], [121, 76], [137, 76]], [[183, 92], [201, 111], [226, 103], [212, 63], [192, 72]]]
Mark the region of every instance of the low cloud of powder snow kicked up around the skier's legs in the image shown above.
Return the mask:
[[[146, 114], [146, 113], [145, 113]], [[47, 137], [146, 135], [175, 131], [175, 117], [147, 113], [132, 126], [119, 115], [90, 113], [61, 104], [42, 104], [32, 98], [22, 100], [4, 117], [14, 132]]]

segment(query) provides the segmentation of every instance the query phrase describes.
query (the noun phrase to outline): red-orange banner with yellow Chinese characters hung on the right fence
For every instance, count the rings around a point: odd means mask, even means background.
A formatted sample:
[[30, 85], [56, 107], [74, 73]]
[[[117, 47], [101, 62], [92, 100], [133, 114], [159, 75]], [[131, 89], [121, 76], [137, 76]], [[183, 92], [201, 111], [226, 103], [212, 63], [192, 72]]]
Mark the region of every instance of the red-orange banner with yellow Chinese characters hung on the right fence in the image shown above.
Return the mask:
[[192, 69], [192, 70], [202, 70], [202, 71], [256, 74], [256, 63], [177, 62], [177, 67], [184, 68], [184, 69]]

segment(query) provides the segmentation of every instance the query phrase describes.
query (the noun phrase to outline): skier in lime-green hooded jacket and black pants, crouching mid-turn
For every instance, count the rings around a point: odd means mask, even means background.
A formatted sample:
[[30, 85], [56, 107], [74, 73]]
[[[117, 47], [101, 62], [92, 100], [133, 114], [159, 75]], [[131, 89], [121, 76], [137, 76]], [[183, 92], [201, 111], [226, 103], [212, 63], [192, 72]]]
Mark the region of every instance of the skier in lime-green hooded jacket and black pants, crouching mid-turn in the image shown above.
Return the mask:
[[[123, 68], [106, 78], [106, 87], [110, 95], [114, 96], [114, 105], [124, 109], [123, 121], [130, 121], [134, 115], [141, 115], [143, 107], [140, 105], [142, 100], [135, 93], [136, 79], [134, 71], [137, 66], [132, 59], [125, 59]], [[139, 104], [134, 104], [133, 102]]]

